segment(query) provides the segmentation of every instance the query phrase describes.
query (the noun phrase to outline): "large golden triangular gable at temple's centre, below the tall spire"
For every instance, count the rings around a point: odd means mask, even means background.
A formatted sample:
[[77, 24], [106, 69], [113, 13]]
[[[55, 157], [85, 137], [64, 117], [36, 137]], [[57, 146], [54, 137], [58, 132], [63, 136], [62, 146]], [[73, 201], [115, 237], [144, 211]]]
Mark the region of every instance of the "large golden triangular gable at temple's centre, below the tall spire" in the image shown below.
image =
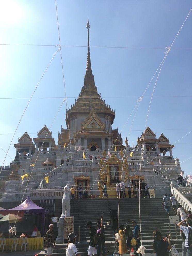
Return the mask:
[[87, 116], [85, 122], [82, 125], [83, 130], [105, 130], [105, 124], [103, 124], [99, 118], [99, 116], [95, 113], [94, 109], [91, 110], [89, 115]]

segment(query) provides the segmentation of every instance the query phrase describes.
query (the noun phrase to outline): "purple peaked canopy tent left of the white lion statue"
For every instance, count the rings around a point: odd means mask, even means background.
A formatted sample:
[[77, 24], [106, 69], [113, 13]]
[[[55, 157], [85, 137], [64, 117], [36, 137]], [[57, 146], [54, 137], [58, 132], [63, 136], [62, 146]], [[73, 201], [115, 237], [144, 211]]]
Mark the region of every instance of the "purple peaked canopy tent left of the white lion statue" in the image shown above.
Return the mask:
[[[12, 213], [12, 211], [22, 211], [25, 210], [25, 213], [41, 213], [42, 214], [42, 223], [43, 223], [43, 236], [45, 233], [45, 213], [49, 213], [48, 210], [45, 208], [37, 206], [33, 201], [31, 201], [30, 197], [28, 196], [23, 203], [14, 207], [12, 209], [3, 210], [3, 212]], [[1, 213], [1, 210], [0, 210]], [[7, 213], [8, 214], [8, 213]]]

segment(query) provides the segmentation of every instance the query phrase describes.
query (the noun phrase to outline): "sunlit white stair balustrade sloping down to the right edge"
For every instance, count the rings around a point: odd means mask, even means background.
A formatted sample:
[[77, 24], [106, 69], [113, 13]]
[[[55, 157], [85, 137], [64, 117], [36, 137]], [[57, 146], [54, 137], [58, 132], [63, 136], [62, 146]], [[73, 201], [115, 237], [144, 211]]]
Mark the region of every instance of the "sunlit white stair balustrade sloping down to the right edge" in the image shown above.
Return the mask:
[[182, 194], [183, 190], [189, 190], [191, 191], [191, 188], [181, 188], [181, 190], [179, 188], [174, 188], [173, 187], [173, 183], [171, 182], [170, 187], [171, 187], [171, 192], [173, 194], [173, 196], [175, 197], [175, 199], [187, 210], [187, 211], [192, 211], [192, 203], [189, 202], [189, 200]]

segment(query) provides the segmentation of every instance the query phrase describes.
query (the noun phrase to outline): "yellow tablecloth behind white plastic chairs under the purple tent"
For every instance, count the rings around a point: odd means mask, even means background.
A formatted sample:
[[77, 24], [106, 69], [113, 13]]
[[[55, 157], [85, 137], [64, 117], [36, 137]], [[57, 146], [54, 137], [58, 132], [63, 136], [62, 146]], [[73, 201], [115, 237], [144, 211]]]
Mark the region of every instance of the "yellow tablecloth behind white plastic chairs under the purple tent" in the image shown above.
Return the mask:
[[[17, 245], [17, 250], [21, 250], [21, 238], [18, 238], [19, 244]], [[11, 250], [11, 245], [12, 245], [12, 238], [6, 238], [6, 250], [8, 249]], [[31, 237], [28, 238], [28, 245], [26, 247], [26, 250], [39, 250], [43, 249], [43, 237]], [[15, 250], [15, 246], [13, 247], [13, 250]], [[24, 250], [24, 245], [22, 250]]]

